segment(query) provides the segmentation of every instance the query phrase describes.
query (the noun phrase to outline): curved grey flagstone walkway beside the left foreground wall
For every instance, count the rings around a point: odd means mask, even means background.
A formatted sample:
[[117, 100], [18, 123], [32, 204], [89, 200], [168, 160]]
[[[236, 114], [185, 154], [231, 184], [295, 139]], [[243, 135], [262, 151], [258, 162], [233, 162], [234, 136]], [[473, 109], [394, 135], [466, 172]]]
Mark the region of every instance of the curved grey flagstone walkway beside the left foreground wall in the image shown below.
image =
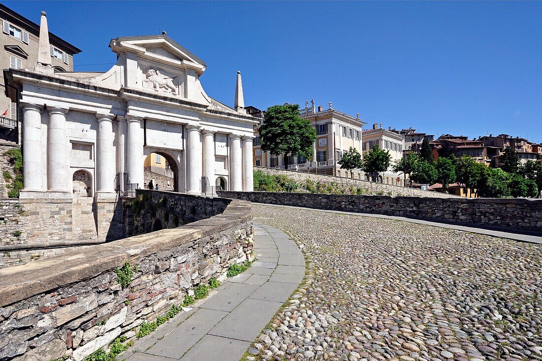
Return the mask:
[[284, 232], [255, 223], [254, 233], [258, 260], [248, 270], [228, 278], [190, 312], [138, 340], [118, 359], [238, 361], [305, 274], [305, 259]]

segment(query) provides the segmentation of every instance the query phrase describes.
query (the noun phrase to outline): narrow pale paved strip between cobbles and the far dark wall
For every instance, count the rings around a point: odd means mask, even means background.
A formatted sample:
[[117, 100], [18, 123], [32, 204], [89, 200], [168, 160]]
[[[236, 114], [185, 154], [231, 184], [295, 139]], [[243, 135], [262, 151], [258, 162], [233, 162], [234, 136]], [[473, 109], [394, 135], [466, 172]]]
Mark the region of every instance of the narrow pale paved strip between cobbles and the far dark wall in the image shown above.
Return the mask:
[[[308, 211], [352, 214], [353, 216], [395, 219], [395, 220], [402, 220], [402, 221], [410, 222], [410, 223], [424, 224], [424, 225], [428, 225], [428, 226], [448, 228], [448, 229], [453, 229], [453, 230], [458, 230], [458, 231], [466, 231], [466, 232], [470, 232], [470, 233], [478, 233], [480, 235], [487, 235], [487, 236], [493, 236], [493, 237], [514, 239], [514, 240], [519, 240], [520, 242], [542, 244], [542, 237], [539, 237], [539, 236], [524, 235], [522, 233], [504, 232], [504, 231], [484, 229], [484, 228], [479, 228], [479, 227], [469, 227], [469, 226], [457, 225], [457, 224], [451, 224], [451, 223], [440, 223], [440, 222], [437, 222], [437, 221], [430, 221], [430, 220], [423, 220], [423, 219], [416, 219], [416, 218], [407, 218], [407, 217], [399, 217], [399, 216], [385, 216], [384, 214], [373, 214], [373, 213], [358, 213], [358, 212], [319, 210], [318, 208], [283, 206], [283, 205], [275, 205], [275, 204], [267, 204], [267, 203], [256, 203], [256, 202], [253, 202], [253, 204], [259, 204], [259, 205], [264, 205], [264, 206], [272, 206], [272, 207], [297, 208], [297, 209], [300, 209], [300, 210], [308, 210]], [[513, 231], [515, 231], [515, 230], [513, 230]], [[520, 231], [517, 231], [517, 232], [520, 232]]]

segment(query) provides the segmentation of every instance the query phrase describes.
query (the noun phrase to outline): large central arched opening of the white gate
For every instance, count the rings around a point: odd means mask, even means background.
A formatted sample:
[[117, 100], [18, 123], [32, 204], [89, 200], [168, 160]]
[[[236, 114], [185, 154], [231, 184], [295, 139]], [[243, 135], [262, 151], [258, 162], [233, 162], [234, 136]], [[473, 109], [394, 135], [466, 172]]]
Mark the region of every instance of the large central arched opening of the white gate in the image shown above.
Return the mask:
[[179, 192], [177, 162], [173, 157], [162, 151], [154, 151], [147, 155], [144, 163], [145, 188], [148, 189], [149, 182], [160, 191]]

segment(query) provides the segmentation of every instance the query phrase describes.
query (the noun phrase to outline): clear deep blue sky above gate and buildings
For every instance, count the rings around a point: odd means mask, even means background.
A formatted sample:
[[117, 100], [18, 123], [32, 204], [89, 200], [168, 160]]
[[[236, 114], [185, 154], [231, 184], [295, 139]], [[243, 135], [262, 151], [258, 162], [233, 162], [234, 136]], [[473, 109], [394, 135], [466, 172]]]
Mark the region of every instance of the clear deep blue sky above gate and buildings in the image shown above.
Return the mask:
[[[542, 142], [542, 2], [24, 2], [8, 7], [106, 71], [109, 40], [162, 30], [206, 62], [207, 93], [246, 105], [315, 100], [365, 128]], [[105, 65], [87, 65], [102, 64]]]

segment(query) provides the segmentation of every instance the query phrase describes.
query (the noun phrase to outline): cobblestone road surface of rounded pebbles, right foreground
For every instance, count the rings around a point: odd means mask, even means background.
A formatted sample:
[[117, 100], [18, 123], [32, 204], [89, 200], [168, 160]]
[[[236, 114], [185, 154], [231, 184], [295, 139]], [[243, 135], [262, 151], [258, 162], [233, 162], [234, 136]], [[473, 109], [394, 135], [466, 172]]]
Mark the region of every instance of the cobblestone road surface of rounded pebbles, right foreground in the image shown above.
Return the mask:
[[248, 360], [542, 360], [542, 246], [253, 205], [308, 262]]

